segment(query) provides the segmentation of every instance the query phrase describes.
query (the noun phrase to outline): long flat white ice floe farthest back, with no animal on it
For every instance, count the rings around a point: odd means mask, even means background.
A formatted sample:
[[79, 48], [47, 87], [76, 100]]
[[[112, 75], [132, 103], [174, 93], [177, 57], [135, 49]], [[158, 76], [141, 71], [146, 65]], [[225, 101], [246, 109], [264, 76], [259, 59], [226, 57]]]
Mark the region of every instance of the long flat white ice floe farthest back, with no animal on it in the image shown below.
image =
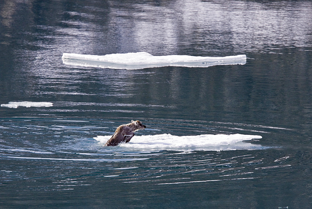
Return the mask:
[[213, 65], [246, 64], [246, 55], [200, 57], [190, 55], [153, 56], [147, 52], [88, 55], [63, 53], [64, 64], [110, 69], [144, 69], [165, 66], [209, 67]]

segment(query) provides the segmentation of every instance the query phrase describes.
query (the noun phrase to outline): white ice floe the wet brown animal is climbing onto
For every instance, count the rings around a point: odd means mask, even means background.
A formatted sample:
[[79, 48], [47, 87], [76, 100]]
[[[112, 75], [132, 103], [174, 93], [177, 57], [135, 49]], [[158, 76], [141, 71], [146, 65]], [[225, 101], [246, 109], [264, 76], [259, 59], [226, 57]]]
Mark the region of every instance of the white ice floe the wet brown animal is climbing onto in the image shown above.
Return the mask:
[[[105, 145], [110, 136], [97, 136], [95, 140]], [[203, 134], [195, 136], [175, 136], [171, 134], [134, 136], [129, 143], [120, 143], [118, 146], [129, 149], [149, 150], [258, 150], [265, 149], [261, 145], [243, 142], [244, 140], [261, 139], [259, 135], [243, 134]]]

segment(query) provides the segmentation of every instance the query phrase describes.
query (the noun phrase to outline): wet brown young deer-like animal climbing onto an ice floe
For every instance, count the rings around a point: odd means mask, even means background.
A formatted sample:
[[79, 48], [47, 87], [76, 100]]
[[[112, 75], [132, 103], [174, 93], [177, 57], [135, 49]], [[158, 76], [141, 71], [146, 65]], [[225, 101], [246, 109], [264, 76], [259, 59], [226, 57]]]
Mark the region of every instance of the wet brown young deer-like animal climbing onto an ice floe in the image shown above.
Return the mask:
[[137, 130], [143, 130], [146, 126], [139, 120], [131, 120], [131, 123], [119, 126], [114, 135], [106, 142], [106, 146], [117, 146], [120, 142], [128, 143]]

